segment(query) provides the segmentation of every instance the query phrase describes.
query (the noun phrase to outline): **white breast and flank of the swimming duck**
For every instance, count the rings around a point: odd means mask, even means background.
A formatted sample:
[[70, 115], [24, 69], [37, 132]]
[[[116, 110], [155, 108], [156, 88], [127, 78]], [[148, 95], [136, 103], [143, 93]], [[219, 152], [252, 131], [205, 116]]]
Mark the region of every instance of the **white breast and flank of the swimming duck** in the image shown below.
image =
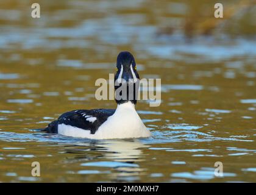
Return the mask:
[[119, 104], [116, 112], [108, 117], [96, 133], [65, 124], [59, 124], [58, 132], [71, 137], [82, 137], [91, 139], [115, 139], [115, 138], [139, 138], [150, 137], [151, 133], [138, 116], [132, 102]]

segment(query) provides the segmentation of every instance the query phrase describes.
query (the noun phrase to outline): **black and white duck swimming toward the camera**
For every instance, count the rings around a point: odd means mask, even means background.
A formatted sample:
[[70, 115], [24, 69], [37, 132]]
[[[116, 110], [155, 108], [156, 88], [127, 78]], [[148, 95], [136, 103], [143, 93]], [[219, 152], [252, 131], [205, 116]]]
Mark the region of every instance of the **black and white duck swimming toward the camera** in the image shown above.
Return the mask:
[[116, 109], [95, 108], [66, 112], [49, 123], [43, 131], [95, 140], [151, 137], [151, 132], [135, 109], [139, 82], [135, 58], [128, 51], [120, 52], [116, 58]]

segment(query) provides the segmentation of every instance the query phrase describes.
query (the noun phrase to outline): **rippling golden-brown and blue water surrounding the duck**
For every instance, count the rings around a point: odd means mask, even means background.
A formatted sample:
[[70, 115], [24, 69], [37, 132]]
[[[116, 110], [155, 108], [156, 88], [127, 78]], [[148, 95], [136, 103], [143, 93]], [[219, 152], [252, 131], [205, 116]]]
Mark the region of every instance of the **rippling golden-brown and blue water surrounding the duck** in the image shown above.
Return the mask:
[[[32, 19], [28, 1], [1, 1], [0, 182], [256, 182], [255, 39], [161, 35], [168, 14], [190, 5], [147, 3], [45, 1]], [[160, 107], [137, 105], [152, 138], [37, 130], [69, 110], [115, 108], [96, 101], [94, 82], [115, 72], [123, 50], [141, 77], [162, 79]]]

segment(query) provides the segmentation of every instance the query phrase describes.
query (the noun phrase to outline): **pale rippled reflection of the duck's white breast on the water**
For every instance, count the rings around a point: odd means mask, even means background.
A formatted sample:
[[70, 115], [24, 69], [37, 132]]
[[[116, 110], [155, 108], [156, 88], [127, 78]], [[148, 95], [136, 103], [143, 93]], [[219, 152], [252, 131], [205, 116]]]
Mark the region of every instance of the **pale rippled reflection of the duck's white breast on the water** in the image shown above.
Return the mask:
[[144, 171], [138, 165], [138, 161], [143, 161], [143, 151], [141, 148], [149, 147], [139, 140], [104, 140], [93, 143], [96, 151], [102, 151], [101, 160], [82, 163], [82, 166], [114, 168], [117, 172], [112, 172], [110, 178], [122, 180], [127, 176], [139, 176]]

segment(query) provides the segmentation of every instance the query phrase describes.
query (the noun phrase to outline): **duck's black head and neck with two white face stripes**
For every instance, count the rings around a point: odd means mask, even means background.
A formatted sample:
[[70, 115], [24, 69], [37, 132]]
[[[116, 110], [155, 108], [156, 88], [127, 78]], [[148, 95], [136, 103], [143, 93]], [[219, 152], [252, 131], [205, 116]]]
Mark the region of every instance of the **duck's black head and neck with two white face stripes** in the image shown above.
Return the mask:
[[[123, 104], [131, 101], [137, 103], [138, 83], [140, 76], [137, 72], [137, 66], [133, 55], [128, 51], [123, 51], [118, 54], [116, 59], [116, 74], [115, 74], [115, 90], [116, 102]], [[123, 91], [126, 88], [126, 94]], [[123, 91], [121, 91], [123, 90]], [[121, 91], [121, 93], [119, 93]]]

